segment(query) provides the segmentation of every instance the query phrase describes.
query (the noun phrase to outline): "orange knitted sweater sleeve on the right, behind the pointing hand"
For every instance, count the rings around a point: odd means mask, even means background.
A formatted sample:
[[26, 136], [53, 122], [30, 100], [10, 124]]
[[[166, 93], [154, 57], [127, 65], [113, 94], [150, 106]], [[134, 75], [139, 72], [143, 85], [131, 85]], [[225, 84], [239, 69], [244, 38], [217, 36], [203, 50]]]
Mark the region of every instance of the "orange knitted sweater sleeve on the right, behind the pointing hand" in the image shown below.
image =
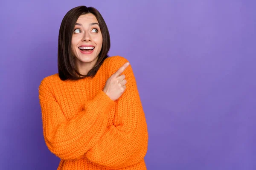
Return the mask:
[[[115, 65], [121, 67], [123, 62]], [[117, 68], [115, 69], [117, 70]], [[142, 161], [148, 147], [145, 114], [131, 65], [123, 72], [127, 88], [116, 100], [115, 121], [84, 157], [94, 164], [111, 169], [132, 166]]]

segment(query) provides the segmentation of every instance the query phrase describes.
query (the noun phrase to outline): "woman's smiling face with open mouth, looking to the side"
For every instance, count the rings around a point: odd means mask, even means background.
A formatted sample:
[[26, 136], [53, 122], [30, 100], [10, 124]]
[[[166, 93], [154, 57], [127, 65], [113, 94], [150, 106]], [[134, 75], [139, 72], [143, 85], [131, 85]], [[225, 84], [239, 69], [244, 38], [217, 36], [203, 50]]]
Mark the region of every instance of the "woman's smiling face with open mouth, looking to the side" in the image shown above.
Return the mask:
[[102, 33], [93, 14], [81, 15], [76, 21], [71, 48], [79, 70], [92, 68], [96, 63], [102, 49]]

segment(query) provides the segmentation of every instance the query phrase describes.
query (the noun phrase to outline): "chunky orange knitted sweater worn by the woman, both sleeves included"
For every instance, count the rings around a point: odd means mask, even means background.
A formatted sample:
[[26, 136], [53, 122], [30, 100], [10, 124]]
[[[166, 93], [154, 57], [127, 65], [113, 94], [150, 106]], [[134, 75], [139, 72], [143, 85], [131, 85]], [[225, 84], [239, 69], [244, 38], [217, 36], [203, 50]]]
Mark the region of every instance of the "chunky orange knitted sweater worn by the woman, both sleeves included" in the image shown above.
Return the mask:
[[62, 81], [58, 74], [42, 80], [39, 101], [43, 134], [61, 160], [58, 170], [146, 170], [148, 131], [131, 65], [127, 88], [111, 100], [103, 88], [127, 59], [105, 59], [94, 78]]

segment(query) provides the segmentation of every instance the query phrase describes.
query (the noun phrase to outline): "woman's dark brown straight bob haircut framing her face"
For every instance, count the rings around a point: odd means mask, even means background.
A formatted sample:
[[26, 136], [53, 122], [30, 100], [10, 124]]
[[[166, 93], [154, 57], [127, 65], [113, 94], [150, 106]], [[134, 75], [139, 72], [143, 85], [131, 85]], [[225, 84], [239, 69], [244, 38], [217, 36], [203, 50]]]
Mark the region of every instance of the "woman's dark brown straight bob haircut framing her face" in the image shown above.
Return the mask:
[[[99, 22], [99, 27], [102, 32], [102, 50], [99, 53], [99, 57], [94, 67], [87, 75], [82, 75], [78, 72], [76, 66], [76, 57], [73, 56], [71, 50], [71, 40], [77, 19], [80, 15], [88, 13], [93, 14]], [[99, 11], [96, 8], [86, 6], [72, 8], [64, 16], [58, 35], [58, 75], [60, 79], [78, 80], [85, 77], [94, 77], [104, 60], [108, 57], [109, 49], [110, 35], [108, 27]]]

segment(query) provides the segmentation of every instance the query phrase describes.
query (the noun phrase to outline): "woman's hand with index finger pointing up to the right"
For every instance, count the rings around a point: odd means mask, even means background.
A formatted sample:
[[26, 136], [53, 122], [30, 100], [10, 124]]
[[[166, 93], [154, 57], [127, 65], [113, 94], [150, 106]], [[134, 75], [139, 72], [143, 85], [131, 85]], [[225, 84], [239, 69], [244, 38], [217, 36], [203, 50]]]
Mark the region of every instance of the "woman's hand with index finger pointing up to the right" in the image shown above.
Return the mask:
[[[108, 78], [103, 91], [107, 94], [113, 101], [117, 100], [125, 91], [125, 84], [127, 81], [125, 80], [125, 75], [122, 74], [123, 71], [128, 67], [129, 62], [125, 63], [122, 67], [120, 67], [116, 73], [114, 73], [111, 77]], [[122, 74], [120, 76], [120, 74]]]

